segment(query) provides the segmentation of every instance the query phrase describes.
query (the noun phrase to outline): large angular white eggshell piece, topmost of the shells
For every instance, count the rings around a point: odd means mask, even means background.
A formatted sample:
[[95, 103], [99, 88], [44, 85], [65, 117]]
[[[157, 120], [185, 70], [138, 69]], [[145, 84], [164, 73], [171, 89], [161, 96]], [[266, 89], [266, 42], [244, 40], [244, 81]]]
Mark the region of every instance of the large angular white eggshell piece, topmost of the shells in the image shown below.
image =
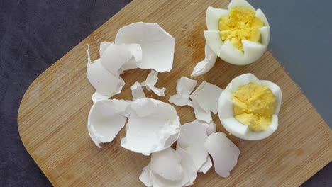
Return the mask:
[[157, 72], [170, 72], [172, 69], [175, 38], [157, 23], [131, 23], [118, 30], [116, 45], [136, 43], [142, 47], [141, 69], [155, 69]]

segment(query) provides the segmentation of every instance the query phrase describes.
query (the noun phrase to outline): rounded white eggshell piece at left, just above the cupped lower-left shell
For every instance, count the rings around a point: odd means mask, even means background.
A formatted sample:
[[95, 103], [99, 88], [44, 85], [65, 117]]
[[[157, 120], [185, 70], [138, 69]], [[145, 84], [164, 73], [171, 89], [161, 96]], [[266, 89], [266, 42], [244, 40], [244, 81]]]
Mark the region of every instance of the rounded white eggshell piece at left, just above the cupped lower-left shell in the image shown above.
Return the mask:
[[119, 94], [125, 84], [121, 77], [107, 71], [100, 60], [87, 63], [87, 78], [99, 94], [109, 97]]

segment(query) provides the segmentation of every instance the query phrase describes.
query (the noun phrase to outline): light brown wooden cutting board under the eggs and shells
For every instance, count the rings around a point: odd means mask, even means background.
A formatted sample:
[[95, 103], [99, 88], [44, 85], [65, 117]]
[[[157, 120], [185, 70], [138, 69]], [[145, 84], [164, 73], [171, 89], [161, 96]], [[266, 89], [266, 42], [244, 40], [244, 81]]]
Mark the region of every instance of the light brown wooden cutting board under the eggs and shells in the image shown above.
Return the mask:
[[[176, 38], [174, 66], [171, 72], [159, 74], [157, 86], [167, 88], [166, 97], [145, 94], [167, 102], [176, 93], [176, 80], [189, 77], [195, 64], [204, 59], [208, 6], [226, 8], [228, 1], [134, 0], [33, 81], [18, 111], [18, 130], [31, 157], [54, 186], [143, 186], [138, 176], [150, 157], [121, 147], [124, 130], [101, 149], [87, 132], [94, 94], [85, 76], [87, 44], [94, 60], [98, 58], [99, 43], [114, 41], [122, 26], [137, 21], [159, 23]], [[144, 81], [149, 72], [124, 72], [126, 86], [115, 98], [132, 99], [129, 87], [135, 81]], [[299, 186], [331, 162], [332, 131], [270, 52], [247, 66], [219, 59], [208, 74], [194, 79], [198, 85], [206, 80], [225, 88], [231, 79], [248, 72], [281, 87], [279, 128], [261, 141], [228, 136], [241, 150], [231, 176], [223, 179], [212, 168], [207, 174], [198, 174], [194, 186]], [[191, 107], [176, 109], [182, 124], [194, 120]], [[226, 132], [217, 115], [214, 121], [218, 131]]]

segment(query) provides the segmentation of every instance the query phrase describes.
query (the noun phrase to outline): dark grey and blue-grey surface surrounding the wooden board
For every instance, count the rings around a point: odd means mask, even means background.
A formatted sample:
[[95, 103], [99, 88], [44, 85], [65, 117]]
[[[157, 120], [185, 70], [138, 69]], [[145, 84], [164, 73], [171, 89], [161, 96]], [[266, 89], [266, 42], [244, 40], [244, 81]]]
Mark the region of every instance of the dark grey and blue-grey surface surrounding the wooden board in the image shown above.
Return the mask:
[[[39, 74], [128, 2], [0, 0], [0, 186], [51, 186], [18, 135], [21, 98]], [[273, 55], [331, 125], [332, 1], [250, 3], [270, 21]], [[303, 186], [332, 186], [331, 165]]]

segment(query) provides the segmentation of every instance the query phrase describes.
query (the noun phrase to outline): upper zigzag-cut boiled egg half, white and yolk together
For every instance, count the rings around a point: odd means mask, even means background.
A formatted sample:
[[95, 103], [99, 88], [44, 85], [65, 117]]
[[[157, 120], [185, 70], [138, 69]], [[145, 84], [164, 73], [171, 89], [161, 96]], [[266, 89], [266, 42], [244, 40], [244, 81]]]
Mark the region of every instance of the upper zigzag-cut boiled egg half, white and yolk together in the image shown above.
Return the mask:
[[232, 0], [227, 10], [207, 8], [206, 26], [206, 44], [231, 64], [255, 62], [267, 50], [270, 41], [270, 25], [264, 13], [245, 0]]

